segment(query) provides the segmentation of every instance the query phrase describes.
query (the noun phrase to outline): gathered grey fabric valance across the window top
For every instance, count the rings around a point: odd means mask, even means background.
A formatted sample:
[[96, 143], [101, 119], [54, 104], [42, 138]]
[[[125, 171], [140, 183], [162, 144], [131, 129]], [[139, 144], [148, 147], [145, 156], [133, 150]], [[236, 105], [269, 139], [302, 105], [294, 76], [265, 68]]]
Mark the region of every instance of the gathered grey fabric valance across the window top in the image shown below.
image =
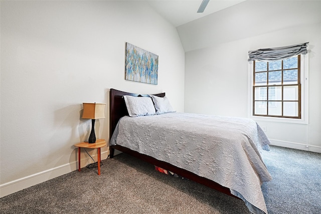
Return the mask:
[[255, 51], [249, 51], [249, 59], [248, 61], [276, 61], [276, 60], [284, 60], [290, 57], [306, 54], [307, 53], [307, 45], [309, 43], [302, 43], [298, 45], [291, 45], [285, 47], [278, 47], [278, 48], [266, 48], [266, 49], [259, 49]]

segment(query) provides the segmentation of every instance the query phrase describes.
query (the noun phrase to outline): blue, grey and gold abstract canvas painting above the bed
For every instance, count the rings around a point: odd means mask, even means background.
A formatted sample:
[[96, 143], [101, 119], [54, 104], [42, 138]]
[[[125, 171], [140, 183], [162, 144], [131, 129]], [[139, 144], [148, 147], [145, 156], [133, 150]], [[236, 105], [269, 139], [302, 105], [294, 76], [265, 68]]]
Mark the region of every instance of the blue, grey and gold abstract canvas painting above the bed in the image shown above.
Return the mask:
[[126, 43], [125, 79], [157, 85], [158, 56]]

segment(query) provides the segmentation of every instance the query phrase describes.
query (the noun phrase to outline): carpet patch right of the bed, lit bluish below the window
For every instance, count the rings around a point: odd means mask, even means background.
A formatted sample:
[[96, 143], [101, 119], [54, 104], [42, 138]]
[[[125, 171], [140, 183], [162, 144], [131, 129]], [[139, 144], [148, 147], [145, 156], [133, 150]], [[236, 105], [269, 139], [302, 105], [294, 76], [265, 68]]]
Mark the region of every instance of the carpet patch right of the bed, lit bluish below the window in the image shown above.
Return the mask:
[[263, 152], [273, 180], [262, 191], [269, 214], [321, 213], [321, 154], [271, 146]]

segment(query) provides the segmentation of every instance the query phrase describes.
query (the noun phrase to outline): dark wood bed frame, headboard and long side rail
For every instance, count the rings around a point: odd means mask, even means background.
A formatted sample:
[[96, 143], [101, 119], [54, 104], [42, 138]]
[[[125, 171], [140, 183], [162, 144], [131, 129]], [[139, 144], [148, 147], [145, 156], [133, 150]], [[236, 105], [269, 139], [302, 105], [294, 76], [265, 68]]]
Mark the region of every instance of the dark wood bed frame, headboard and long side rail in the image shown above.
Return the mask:
[[[146, 94], [133, 94], [133, 93], [128, 93], [128, 92], [123, 92], [123, 91], [118, 91], [118, 90], [115, 90], [115, 89], [110, 89], [110, 111], [109, 111], [109, 121], [110, 121], [110, 124], [109, 124], [109, 128], [110, 128], [110, 138], [112, 136], [112, 133], [114, 132], [115, 128], [116, 128], [116, 125], [118, 123], [118, 120], [125, 116], [125, 115], [128, 115], [128, 112], [127, 112], [127, 109], [126, 109], [126, 105], [125, 105], [125, 102], [124, 102], [124, 99], [122, 98], [123, 95], [130, 95], [130, 96], [148, 96]], [[165, 93], [161, 93], [161, 94], [154, 94], [158, 97], [164, 97], [165, 96]], [[170, 170], [176, 174], [179, 174], [181, 175], [182, 177], [186, 177], [190, 180], [193, 180], [195, 182], [198, 182], [198, 183], [201, 183], [201, 184], [204, 184], [208, 187], [211, 187], [213, 189], [216, 189], [220, 192], [223, 192], [225, 194], [228, 194], [228, 195], [231, 195], [233, 197], [236, 197], [235, 195], [231, 194], [230, 192], [230, 189], [225, 187], [225, 186], [222, 186], [210, 179], [207, 179], [205, 177], [201, 177], [193, 172], [190, 172], [188, 170], [185, 170], [185, 169], [182, 169], [182, 168], [179, 168], [177, 166], [174, 166], [170, 163], [167, 163], [167, 162], [164, 162], [164, 161], [161, 161], [161, 160], [157, 160], [153, 157], [150, 157], [148, 155], [145, 155], [145, 154], [141, 154], [137, 151], [133, 151], [131, 149], [128, 149], [126, 147], [123, 147], [123, 146], [120, 146], [120, 145], [113, 145], [113, 146], [110, 146], [109, 147], [109, 152], [110, 152], [110, 158], [113, 158], [114, 156], [114, 151], [115, 149], [119, 150], [119, 151], [122, 151], [122, 152], [125, 152], [127, 154], [130, 154], [134, 157], [137, 157], [141, 160], [144, 160], [148, 163], [151, 163], [153, 165], [156, 165], [156, 166], [159, 166], [161, 168], [164, 168], [164, 169], [167, 169], [167, 170]], [[238, 198], [238, 197], [236, 197]], [[239, 198], [240, 199], [240, 198]]]

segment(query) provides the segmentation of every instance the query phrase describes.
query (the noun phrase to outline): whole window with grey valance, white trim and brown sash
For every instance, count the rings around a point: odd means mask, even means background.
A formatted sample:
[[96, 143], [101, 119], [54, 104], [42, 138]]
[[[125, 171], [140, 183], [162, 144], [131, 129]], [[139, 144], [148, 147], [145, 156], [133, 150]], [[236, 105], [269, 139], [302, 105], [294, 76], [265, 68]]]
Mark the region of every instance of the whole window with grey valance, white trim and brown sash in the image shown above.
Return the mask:
[[308, 42], [249, 51], [249, 117], [308, 124]]

